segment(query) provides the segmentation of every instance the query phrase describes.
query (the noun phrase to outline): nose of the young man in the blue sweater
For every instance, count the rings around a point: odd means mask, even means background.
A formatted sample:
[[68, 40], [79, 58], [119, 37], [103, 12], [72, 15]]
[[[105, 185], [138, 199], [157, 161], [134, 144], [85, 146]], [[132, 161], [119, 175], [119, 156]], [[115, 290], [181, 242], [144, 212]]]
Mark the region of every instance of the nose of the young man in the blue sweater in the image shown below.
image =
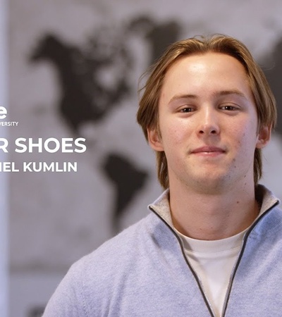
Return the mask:
[[203, 109], [202, 116], [200, 116], [198, 133], [200, 135], [218, 135], [219, 131], [219, 118], [216, 114], [216, 109]]

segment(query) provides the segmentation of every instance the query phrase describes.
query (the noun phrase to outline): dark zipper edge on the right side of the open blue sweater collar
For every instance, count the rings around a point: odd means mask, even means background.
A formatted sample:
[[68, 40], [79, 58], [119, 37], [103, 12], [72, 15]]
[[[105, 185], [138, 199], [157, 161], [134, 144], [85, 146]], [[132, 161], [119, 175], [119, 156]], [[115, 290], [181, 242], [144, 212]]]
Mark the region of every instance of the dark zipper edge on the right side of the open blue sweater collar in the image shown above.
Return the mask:
[[273, 209], [278, 204], [279, 204], [279, 201], [276, 200], [274, 202], [274, 204], [272, 204], [272, 206], [269, 207], [269, 209], [266, 209], [266, 211], [264, 211], [264, 213], [262, 213], [262, 215], [259, 218], [257, 218], [257, 220], [255, 220], [255, 222], [250, 226], [249, 230], [247, 230], [247, 232], [245, 233], [245, 236], [243, 237], [242, 248], [241, 248], [240, 253], [238, 255], [238, 259], [237, 259], [237, 261], [235, 263], [235, 266], [233, 267], [233, 270], [232, 270], [232, 273], [231, 273], [231, 278], [230, 278], [229, 283], [228, 283], [228, 288], [227, 288], [227, 291], [226, 291], [226, 297], [225, 297], [225, 300], [224, 300], [221, 317], [225, 317], [225, 314], [226, 314], [226, 309], [227, 309], [229, 297], [230, 297], [230, 294], [231, 294], [231, 288], [232, 288], [232, 285], [233, 285], [233, 280], [234, 280], [235, 274], [236, 274], [236, 272], [238, 270], [240, 261], [241, 261], [241, 259], [243, 257], [243, 253], [245, 251], [245, 247], [246, 247], [246, 244], [247, 244], [247, 238], [250, 236], [250, 233], [256, 227], [256, 225], [259, 223], [259, 221], [262, 220], [262, 218], [264, 218], [264, 216], [266, 216], [266, 214], [269, 213], [269, 211], [271, 211], [271, 209]]

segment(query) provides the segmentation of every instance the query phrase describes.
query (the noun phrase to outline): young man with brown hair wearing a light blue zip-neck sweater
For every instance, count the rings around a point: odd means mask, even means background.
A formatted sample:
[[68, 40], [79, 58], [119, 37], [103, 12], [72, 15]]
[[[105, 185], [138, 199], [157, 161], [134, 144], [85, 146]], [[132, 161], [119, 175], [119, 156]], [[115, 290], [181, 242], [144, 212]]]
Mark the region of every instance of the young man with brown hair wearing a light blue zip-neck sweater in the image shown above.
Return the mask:
[[72, 266], [44, 317], [281, 316], [282, 214], [257, 184], [276, 106], [250, 52], [222, 35], [176, 42], [137, 120], [166, 190]]

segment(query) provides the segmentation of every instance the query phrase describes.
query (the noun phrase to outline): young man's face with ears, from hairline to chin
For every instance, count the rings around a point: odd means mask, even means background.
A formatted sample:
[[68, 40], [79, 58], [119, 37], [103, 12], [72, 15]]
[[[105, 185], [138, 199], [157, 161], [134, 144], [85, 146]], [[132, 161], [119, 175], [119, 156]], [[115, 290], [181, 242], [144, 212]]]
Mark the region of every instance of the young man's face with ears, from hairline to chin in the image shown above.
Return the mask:
[[170, 187], [211, 192], [253, 185], [255, 148], [269, 140], [257, 132], [257, 111], [245, 69], [232, 56], [192, 55], [176, 61], [164, 78], [159, 132], [149, 143], [164, 151]]

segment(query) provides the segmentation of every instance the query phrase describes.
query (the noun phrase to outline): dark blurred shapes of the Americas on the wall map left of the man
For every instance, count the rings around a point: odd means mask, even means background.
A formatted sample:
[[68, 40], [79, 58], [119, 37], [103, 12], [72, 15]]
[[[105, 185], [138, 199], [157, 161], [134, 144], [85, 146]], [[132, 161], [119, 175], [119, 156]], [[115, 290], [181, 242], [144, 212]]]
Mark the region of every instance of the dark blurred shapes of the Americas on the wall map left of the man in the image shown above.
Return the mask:
[[[149, 44], [148, 66], [175, 42], [181, 27], [178, 23], [158, 24], [147, 16], [133, 18], [122, 27], [118, 35], [107, 27], [95, 30], [83, 47], [66, 42], [54, 33], [46, 33], [38, 39], [28, 57], [30, 63], [48, 61], [56, 69], [61, 88], [58, 100], [58, 116], [65, 121], [75, 136], [81, 136], [85, 123], [95, 125], [121, 106], [129, 94], [135, 94], [130, 83], [130, 72], [137, 56], [133, 56], [126, 43], [129, 35]], [[111, 74], [111, 80], [103, 81], [103, 72]], [[128, 157], [109, 153], [101, 168], [106, 178], [114, 184], [115, 201], [112, 211], [113, 233], [121, 230], [120, 218], [135, 194], [143, 189], [148, 173]]]

